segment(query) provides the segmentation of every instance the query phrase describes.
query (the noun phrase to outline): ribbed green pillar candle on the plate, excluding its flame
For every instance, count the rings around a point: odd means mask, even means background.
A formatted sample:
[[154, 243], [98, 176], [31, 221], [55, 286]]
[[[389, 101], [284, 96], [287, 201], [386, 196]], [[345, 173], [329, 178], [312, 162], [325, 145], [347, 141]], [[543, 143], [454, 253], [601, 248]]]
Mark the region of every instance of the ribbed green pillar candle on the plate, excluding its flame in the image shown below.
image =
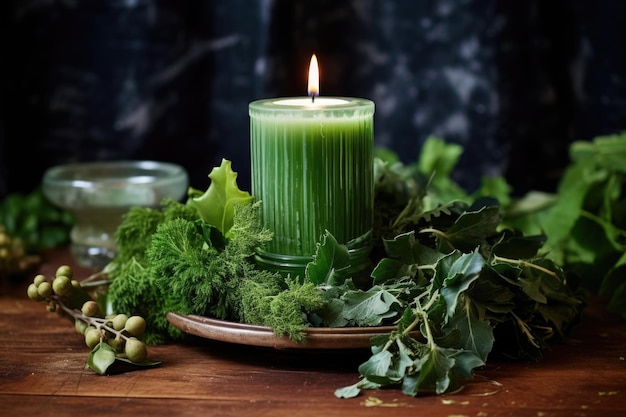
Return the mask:
[[[328, 230], [339, 243], [373, 223], [373, 115], [370, 100], [284, 98], [250, 103], [252, 193], [272, 242], [257, 252], [270, 269], [304, 273]], [[371, 242], [351, 249], [353, 270]]]

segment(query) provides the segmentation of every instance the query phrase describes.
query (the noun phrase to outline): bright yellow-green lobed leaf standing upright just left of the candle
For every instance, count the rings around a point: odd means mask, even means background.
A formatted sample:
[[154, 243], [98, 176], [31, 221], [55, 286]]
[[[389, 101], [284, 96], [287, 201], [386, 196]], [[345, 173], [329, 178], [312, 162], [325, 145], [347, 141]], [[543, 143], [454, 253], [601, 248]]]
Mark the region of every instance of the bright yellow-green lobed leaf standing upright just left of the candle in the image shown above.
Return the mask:
[[187, 204], [194, 207], [207, 223], [228, 236], [235, 218], [235, 205], [250, 204], [253, 197], [239, 189], [237, 173], [232, 170], [231, 161], [227, 159], [222, 159], [221, 165], [211, 170], [209, 178], [211, 184], [204, 193], [189, 189]]

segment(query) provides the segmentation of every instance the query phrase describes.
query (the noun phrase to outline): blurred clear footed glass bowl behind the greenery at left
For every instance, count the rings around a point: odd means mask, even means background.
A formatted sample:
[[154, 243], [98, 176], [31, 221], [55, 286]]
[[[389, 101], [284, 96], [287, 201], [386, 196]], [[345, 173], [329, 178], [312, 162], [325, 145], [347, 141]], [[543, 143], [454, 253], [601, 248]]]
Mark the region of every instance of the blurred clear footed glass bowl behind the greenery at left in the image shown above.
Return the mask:
[[102, 268], [115, 256], [115, 231], [133, 206], [179, 201], [188, 187], [185, 169], [156, 161], [82, 162], [49, 168], [43, 192], [74, 217], [71, 250], [84, 267]]

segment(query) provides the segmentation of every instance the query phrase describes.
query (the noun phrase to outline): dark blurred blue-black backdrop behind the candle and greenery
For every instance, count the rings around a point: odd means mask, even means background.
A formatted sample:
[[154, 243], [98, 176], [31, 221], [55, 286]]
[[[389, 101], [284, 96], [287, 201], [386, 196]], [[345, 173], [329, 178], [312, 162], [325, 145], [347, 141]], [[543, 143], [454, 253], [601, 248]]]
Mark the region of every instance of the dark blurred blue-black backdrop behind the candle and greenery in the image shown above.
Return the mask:
[[572, 140], [626, 128], [625, 21], [620, 0], [4, 0], [0, 197], [107, 159], [205, 188], [224, 157], [249, 189], [248, 103], [305, 95], [312, 53], [321, 94], [374, 100], [405, 162], [435, 134], [468, 191], [552, 191]]

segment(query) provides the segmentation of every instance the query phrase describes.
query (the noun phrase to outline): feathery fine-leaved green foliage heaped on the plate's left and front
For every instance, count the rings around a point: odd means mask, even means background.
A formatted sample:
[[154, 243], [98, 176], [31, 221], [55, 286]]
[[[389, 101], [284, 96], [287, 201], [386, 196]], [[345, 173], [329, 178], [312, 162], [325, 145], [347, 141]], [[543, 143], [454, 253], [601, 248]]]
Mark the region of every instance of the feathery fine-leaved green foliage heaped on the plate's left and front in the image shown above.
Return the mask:
[[236, 207], [228, 238], [188, 209], [171, 202], [125, 217], [109, 268], [114, 310], [142, 315], [150, 344], [183, 336], [167, 322], [170, 311], [271, 326], [303, 342], [307, 314], [323, 306], [322, 292], [256, 268], [255, 248], [272, 238], [261, 223], [261, 203]]

